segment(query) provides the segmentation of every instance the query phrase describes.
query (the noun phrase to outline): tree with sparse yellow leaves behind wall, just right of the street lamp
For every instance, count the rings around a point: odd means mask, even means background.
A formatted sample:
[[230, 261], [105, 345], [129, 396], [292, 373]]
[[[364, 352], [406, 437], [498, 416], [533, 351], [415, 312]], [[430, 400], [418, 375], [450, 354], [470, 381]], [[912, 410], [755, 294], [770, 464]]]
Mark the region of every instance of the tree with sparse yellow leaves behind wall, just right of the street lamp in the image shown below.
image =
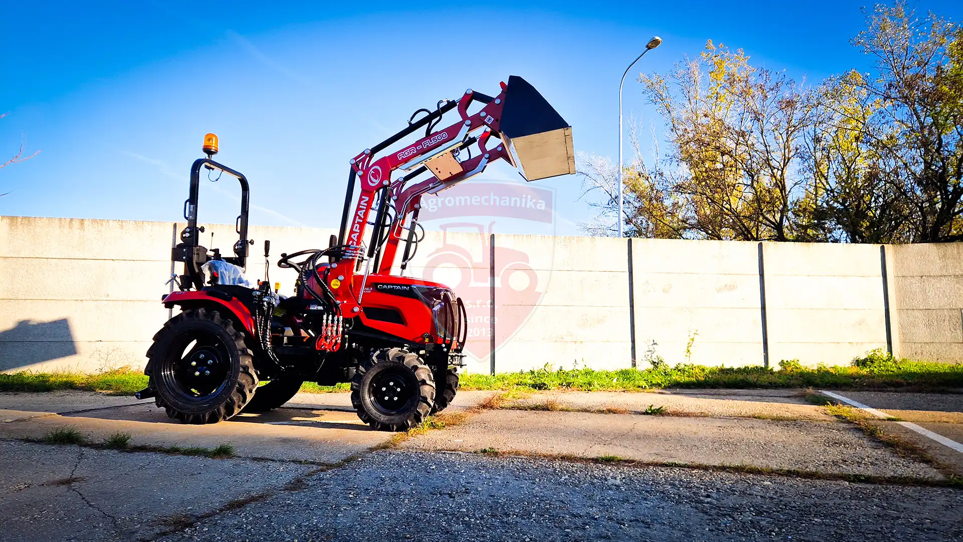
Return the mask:
[[816, 111], [810, 90], [756, 68], [712, 41], [667, 76], [638, 78], [662, 113], [668, 153], [629, 175], [640, 234], [658, 237], [821, 240], [810, 227], [801, 136]]

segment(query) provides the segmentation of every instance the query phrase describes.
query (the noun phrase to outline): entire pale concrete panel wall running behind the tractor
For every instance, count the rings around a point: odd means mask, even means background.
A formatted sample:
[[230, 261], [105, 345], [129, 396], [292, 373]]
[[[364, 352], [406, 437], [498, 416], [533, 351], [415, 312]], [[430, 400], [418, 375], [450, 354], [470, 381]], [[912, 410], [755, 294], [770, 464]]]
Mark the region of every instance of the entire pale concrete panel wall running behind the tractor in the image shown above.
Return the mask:
[[[0, 217], [0, 370], [143, 366], [168, 318], [159, 301], [182, 228]], [[205, 246], [211, 232], [229, 253], [233, 227], [207, 226]], [[252, 227], [248, 275], [263, 278], [265, 238], [274, 262], [325, 246], [333, 232]], [[405, 274], [453, 285], [466, 301], [473, 372], [493, 358], [498, 371], [657, 357], [761, 365], [767, 354], [771, 366], [845, 365], [887, 347], [963, 361], [961, 251], [429, 232]], [[274, 265], [271, 279], [282, 293], [294, 286], [294, 273]]]

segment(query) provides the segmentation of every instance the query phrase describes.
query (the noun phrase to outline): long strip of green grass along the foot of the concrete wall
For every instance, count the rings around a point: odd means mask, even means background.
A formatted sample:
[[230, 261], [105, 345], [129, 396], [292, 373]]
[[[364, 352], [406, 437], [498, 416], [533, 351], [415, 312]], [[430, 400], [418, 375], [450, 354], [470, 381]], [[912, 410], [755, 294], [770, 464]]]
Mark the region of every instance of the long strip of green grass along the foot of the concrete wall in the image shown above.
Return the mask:
[[[0, 392], [87, 390], [132, 395], [147, 386], [147, 377], [129, 368], [101, 374], [17, 372], [0, 374]], [[798, 361], [762, 366], [657, 366], [646, 369], [546, 367], [492, 375], [462, 374], [462, 390], [639, 392], [664, 388], [830, 388], [835, 390], [905, 389], [938, 392], [963, 389], [963, 364], [938, 364], [894, 358], [873, 350], [850, 366], [806, 367]], [[348, 392], [349, 384], [319, 386], [305, 382], [301, 392]]]

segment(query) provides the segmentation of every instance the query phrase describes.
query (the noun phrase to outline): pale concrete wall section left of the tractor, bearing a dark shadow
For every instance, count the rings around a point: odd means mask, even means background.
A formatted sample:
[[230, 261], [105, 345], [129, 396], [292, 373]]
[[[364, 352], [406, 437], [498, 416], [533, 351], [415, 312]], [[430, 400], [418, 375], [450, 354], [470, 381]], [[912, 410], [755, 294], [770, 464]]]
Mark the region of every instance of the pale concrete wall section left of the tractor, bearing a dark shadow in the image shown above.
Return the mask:
[[173, 235], [162, 222], [0, 217], [0, 370], [143, 365], [168, 316]]

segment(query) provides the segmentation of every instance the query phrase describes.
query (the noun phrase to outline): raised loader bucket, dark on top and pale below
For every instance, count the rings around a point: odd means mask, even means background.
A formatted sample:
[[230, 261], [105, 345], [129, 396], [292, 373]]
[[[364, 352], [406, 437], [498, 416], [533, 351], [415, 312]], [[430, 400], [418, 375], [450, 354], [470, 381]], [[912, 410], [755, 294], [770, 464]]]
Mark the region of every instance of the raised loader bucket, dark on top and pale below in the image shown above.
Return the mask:
[[500, 130], [512, 165], [527, 180], [575, 173], [572, 126], [517, 75], [508, 77]]

